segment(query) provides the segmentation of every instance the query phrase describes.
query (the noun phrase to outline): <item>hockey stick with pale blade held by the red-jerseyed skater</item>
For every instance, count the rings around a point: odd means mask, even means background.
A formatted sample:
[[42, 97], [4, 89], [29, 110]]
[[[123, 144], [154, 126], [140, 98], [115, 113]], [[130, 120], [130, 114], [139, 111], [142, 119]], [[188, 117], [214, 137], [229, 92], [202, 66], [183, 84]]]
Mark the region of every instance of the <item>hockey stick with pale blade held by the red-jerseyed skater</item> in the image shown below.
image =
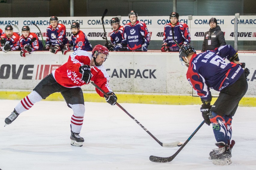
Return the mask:
[[[94, 82], [90, 81], [92, 83], [92, 85], [94, 85], [99, 91], [101, 91], [106, 97], [109, 97], [109, 95], [103, 91], [98, 85], [96, 85]], [[148, 129], [146, 129], [138, 120], [136, 120], [132, 115], [130, 115], [119, 103], [116, 102], [116, 105], [122, 109], [126, 114], [128, 114], [128, 116], [130, 116], [142, 129], [144, 129], [151, 137], [153, 137], [153, 139], [155, 141], [157, 141], [157, 143], [159, 143], [161, 146], [166, 147], [166, 148], [172, 148], [172, 147], [176, 147], [176, 146], [181, 146], [182, 143], [180, 143], [179, 141], [173, 142], [173, 143], [162, 143], [160, 142], [156, 137], [154, 137], [153, 134], [151, 134]]]

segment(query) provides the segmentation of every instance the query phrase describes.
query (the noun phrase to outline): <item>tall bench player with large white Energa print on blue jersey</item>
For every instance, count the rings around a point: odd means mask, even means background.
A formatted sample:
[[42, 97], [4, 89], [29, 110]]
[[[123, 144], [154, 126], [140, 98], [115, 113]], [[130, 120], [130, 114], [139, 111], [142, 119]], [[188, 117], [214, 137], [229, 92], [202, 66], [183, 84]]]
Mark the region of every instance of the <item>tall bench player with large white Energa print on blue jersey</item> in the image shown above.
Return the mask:
[[146, 24], [137, 20], [138, 14], [135, 11], [131, 11], [128, 17], [130, 23], [123, 26], [123, 40], [114, 47], [114, 50], [127, 45], [129, 51], [148, 51], [150, 34]]

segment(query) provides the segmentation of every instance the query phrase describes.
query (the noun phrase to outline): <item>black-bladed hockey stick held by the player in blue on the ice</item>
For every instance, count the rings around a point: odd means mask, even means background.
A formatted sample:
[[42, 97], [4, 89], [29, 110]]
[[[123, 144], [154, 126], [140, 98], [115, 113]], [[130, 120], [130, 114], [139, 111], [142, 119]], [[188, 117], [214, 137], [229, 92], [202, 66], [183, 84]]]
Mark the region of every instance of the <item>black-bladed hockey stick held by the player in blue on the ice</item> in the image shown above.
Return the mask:
[[190, 141], [190, 139], [197, 133], [197, 131], [203, 126], [204, 121], [197, 127], [197, 129], [190, 135], [190, 137], [186, 140], [186, 142], [178, 149], [178, 151], [175, 152], [175, 154], [173, 154], [170, 157], [157, 157], [157, 156], [150, 156], [149, 160], [151, 160], [152, 162], [171, 162], [177, 155], [178, 153], [181, 151], [181, 149], [184, 148], [184, 146]]

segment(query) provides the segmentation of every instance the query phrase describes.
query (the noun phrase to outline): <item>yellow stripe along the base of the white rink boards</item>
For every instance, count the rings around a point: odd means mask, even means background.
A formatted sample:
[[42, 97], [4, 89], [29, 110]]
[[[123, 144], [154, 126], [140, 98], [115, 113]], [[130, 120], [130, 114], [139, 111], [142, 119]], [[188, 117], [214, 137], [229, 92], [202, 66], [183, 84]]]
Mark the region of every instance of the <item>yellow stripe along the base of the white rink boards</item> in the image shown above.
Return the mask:
[[[26, 97], [30, 91], [0, 91], [0, 99], [21, 100]], [[143, 103], [143, 104], [161, 104], [161, 105], [201, 105], [199, 97], [192, 96], [172, 96], [172, 95], [147, 95], [147, 94], [117, 94], [119, 103]], [[217, 97], [212, 98], [212, 104]], [[51, 94], [46, 100], [64, 101], [60, 93]], [[103, 97], [96, 93], [84, 93], [85, 102], [105, 102]], [[255, 97], [243, 97], [239, 106], [256, 107]]]

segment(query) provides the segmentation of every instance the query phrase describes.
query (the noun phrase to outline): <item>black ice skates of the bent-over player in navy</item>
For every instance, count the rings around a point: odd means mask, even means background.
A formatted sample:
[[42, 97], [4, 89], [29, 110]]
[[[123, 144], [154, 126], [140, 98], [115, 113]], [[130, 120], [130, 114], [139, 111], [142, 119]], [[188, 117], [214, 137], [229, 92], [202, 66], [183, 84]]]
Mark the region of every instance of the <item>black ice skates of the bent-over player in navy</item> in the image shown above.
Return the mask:
[[214, 149], [210, 152], [209, 159], [212, 160], [212, 163], [215, 165], [229, 165], [231, 161], [231, 149], [233, 148], [235, 141], [232, 140], [231, 144], [225, 144], [224, 142], [215, 143], [218, 146], [217, 149]]

